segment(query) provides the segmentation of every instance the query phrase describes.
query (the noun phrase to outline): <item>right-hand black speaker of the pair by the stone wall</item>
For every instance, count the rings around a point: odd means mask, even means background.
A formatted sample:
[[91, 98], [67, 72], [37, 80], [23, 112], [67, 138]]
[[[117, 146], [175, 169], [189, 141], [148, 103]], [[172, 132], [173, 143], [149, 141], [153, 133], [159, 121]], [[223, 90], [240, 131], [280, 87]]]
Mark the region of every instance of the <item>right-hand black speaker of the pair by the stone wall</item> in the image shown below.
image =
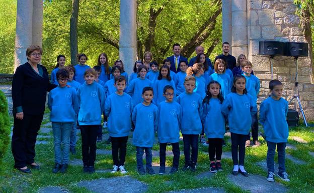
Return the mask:
[[286, 42], [284, 56], [307, 57], [308, 44], [305, 42]]

